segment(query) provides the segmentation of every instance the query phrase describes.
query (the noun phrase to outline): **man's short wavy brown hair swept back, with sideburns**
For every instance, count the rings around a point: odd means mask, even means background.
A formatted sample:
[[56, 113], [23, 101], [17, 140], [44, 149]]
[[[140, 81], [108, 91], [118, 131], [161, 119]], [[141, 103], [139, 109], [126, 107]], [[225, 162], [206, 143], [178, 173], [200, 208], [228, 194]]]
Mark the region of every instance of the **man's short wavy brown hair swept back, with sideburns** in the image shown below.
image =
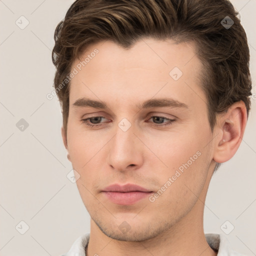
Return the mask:
[[[238, 12], [228, 0], [76, 0], [55, 29], [54, 86], [66, 132], [69, 81], [73, 61], [92, 43], [112, 40], [130, 48], [139, 38], [194, 41], [204, 68], [201, 86], [207, 98], [211, 130], [216, 114], [243, 100], [250, 109], [249, 48]], [[228, 16], [228, 17], [226, 17]], [[230, 19], [231, 18], [231, 19]], [[226, 20], [233, 21], [227, 29]], [[59, 89], [59, 84], [64, 84]], [[58, 89], [58, 90], [57, 90]]]

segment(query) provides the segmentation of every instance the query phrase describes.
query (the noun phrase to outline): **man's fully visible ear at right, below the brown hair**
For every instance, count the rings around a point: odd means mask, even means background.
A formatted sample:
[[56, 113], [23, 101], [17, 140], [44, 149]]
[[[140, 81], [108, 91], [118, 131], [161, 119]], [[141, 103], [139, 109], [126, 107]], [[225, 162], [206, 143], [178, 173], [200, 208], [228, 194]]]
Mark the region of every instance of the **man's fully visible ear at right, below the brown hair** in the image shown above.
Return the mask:
[[213, 160], [225, 162], [237, 151], [247, 122], [247, 112], [242, 100], [233, 103], [224, 114], [217, 117], [215, 127], [218, 139], [215, 143]]

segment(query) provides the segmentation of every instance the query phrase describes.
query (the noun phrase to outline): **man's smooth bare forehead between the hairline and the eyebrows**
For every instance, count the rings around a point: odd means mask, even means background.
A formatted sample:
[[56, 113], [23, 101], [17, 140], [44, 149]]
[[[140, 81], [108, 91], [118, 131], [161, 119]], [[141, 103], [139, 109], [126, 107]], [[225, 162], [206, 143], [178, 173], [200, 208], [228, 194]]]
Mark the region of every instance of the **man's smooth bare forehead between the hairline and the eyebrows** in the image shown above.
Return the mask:
[[187, 93], [202, 92], [201, 68], [192, 42], [144, 38], [129, 49], [109, 40], [98, 42], [72, 63], [71, 70], [77, 73], [70, 82], [70, 103], [82, 96], [115, 96], [120, 102], [142, 101], [156, 94], [185, 99]]

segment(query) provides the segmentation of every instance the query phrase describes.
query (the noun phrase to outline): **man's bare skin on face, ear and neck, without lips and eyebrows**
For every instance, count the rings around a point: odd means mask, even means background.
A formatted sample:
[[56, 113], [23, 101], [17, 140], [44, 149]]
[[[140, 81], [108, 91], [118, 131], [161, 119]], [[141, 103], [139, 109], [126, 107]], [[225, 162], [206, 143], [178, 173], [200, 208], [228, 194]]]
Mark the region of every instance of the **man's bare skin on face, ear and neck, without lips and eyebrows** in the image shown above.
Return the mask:
[[[91, 216], [87, 255], [216, 255], [203, 232], [204, 201], [215, 163], [230, 159], [241, 142], [247, 120], [244, 103], [219, 114], [211, 132], [200, 87], [203, 67], [192, 43], [143, 38], [127, 50], [104, 41], [87, 48], [81, 59], [95, 48], [99, 52], [71, 80], [66, 134], [61, 128]], [[174, 66], [183, 72], [176, 81], [169, 75]], [[85, 96], [105, 101], [108, 108], [72, 105]], [[161, 97], [188, 108], [135, 107]], [[104, 118], [87, 123], [101, 126], [82, 122], [93, 116]], [[168, 120], [151, 116], [175, 121], [159, 126]], [[118, 126], [122, 118], [131, 124], [127, 131]], [[135, 183], [156, 192], [197, 151], [200, 156], [153, 202], [145, 197], [118, 205], [102, 193], [113, 183]], [[130, 227], [125, 233], [118, 228], [123, 221]]]

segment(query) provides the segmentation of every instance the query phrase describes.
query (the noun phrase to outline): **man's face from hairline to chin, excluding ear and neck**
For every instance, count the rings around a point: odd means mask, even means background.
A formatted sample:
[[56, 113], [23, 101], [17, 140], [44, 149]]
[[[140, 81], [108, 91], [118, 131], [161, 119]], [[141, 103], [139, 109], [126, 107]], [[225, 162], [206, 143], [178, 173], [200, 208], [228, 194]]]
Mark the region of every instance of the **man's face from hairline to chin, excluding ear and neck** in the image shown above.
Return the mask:
[[[95, 48], [98, 52], [91, 54]], [[80, 60], [71, 68], [78, 73], [70, 85], [67, 147], [80, 175], [76, 183], [83, 203], [109, 237], [154, 237], [192, 214], [214, 166], [201, 62], [193, 44], [151, 38], [128, 50], [100, 42]], [[107, 108], [73, 105], [83, 97], [104, 101]], [[174, 104], [138, 108], [162, 98]], [[114, 183], [152, 192], [137, 200], [115, 193], [110, 200], [103, 190]]]

